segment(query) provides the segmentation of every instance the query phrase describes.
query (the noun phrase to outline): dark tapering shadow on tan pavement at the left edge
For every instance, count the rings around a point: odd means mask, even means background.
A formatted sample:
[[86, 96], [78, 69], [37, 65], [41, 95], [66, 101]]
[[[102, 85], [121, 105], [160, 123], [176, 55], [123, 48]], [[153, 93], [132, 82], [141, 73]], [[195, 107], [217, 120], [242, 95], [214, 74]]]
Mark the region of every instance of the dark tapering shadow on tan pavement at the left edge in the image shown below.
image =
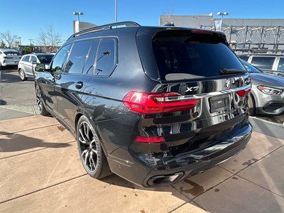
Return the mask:
[[[65, 148], [68, 143], [48, 143], [37, 138], [23, 136], [19, 133], [0, 131], [0, 153], [24, 151], [32, 148]], [[3, 137], [4, 136], [4, 137]]]

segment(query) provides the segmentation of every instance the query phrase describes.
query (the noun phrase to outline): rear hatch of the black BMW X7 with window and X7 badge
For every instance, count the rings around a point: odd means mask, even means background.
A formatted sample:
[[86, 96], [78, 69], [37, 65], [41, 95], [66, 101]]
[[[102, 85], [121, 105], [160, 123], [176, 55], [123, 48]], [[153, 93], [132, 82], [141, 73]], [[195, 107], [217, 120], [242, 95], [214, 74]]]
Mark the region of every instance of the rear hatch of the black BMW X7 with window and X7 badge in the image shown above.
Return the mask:
[[[173, 156], [200, 151], [234, 140], [248, 124], [249, 74], [224, 34], [143, 28], [138, 31], [137, 45], [144, 72], [160, 82], [151, 92], [163, 93], [164, 106], [187, 106], [165, 109], [163, 116], [155, 116], [153, 125], [143, 122], [146, 136], [163, 136], [161, 141], [168, 148], [161, 150]], [[155, 102], [159, 98], [151, 97]]]

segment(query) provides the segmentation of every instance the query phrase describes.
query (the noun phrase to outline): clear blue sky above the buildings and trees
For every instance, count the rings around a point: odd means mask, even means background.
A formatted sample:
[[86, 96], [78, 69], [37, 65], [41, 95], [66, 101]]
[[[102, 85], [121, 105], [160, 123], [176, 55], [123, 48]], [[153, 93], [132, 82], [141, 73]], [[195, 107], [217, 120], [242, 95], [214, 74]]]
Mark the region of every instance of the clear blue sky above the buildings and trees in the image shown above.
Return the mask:
[[[97, 25], [114, 23], [115, 0], [0, 0], [0, 33], [10, 31], [21, 37], [21, 44], [29, 39], [36, 44], [41, 30], [52, 25], [54, 31], [67, 40], [73, 33], [73, 12], [83, 12], [80, 21]], [[270, 4], [269, 2], [273, 2]], [[228, 12], [225, 18], [284, 18], [284, 1], [238, 0], [117, 0], [118, 21], [136, 21], [143, 26], [158, 26], [160, 15], [204, 15]]]

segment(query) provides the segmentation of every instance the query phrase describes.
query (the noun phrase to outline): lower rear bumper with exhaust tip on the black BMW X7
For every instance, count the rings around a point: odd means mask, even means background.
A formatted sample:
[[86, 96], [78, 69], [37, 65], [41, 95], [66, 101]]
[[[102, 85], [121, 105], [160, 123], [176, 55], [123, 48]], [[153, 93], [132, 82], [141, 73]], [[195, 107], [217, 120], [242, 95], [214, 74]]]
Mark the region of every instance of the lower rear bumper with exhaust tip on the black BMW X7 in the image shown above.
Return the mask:
[[[153, 158], [152, 163], [151, 160], [148, 161], [149, 164], [142, 159], [143, 155], [139, 156], [140, 161], [133, 158], [134, 163], [122, 163], [118, 159], [109, 158], [109, 165], [117, 175], [143, 187], [170, 185], [202, 173], [238, 154], [249, 142], [251, 131], [251, 124], [247, 123], [241, 127], [240, 131], [231, 136], [225, 136], [216, 145], [194, 153], [182, 153], [170, 158], [163, 156], [160, 159]], [[153, 165], [153, 161], [160, 163]]]

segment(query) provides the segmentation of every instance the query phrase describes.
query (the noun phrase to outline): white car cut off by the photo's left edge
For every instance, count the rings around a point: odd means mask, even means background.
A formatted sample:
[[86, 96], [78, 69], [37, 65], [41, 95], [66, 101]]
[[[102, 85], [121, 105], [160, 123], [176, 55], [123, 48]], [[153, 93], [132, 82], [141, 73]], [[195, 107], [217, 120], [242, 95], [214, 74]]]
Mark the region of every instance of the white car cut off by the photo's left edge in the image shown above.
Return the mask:
[[18, 50], [9, 48], [0, 48], [0, 68], [7, 66], [17, 66], [21, 59], [21, 54]]

